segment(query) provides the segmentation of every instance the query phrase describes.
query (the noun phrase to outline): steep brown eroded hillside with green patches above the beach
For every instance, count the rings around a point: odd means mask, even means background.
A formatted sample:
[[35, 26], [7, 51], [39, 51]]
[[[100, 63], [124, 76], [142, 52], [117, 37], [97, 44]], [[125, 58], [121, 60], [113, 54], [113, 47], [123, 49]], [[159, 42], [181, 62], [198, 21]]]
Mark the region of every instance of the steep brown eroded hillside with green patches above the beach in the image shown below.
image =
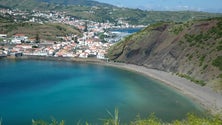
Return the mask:
[[222, 89], [222, 71], [214, 65], [220, 56], [221, 18], [151, 25], [114, 45], [108, 54], [114, 61], [176, 73]]

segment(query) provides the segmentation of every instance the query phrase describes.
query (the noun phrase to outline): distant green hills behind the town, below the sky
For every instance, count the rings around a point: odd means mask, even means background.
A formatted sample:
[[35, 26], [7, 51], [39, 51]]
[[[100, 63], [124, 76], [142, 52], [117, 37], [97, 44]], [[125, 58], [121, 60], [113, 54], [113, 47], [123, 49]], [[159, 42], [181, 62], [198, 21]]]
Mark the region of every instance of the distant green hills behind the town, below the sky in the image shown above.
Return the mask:
[[65, 11], [78, 19], [99, 22], [118, 22], [118, 19], [130, 24], [153, 24], [160, 21], [183, 22], [222, 16], [205, 12], [179, 11], [144, 11], [140, 9], [119, 8], [91, 0], [0, 0], [0, 7], [19, 8], [22, 10]]

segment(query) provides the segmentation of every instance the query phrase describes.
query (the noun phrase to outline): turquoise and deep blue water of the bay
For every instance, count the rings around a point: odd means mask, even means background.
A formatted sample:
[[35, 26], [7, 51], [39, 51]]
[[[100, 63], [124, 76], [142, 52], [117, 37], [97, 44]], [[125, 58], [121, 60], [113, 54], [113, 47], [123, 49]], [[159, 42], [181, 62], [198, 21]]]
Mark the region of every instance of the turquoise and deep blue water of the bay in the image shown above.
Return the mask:
[[119, 109], [121, 122], [150, 113], [182, 119], [202, 109], [145, 76], [112, 67], [71, 62], [0, 60], [0, 118], [5, 125], [32, 119], [101, 124]]

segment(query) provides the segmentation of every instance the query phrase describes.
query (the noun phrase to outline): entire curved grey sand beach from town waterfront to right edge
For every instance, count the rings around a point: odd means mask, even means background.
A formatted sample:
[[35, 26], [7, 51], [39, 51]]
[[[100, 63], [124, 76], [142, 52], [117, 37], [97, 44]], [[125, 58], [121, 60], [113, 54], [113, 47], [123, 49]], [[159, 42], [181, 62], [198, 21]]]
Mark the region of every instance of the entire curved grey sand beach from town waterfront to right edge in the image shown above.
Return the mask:
[[[10, 58], [8, 58], [10, 59]], [[130, 70], [133, 72], [141, 73], [149, 78], [159, 80], [162, 84], [172, 87], [181, 94], [190, 97], [196, 103], [200, 104], [204, 109], [212, 114], [218, 114], [222, 112], [222, 95], [215, 92], [209, 87], [202, 87], [191, 81], [173, 75], [169, 72], [164, 72], [156, 69], [148, 69], [143, 66], [116, 63], [116, 62], [106, 62], [98, 59], [80, 59], [80, 58], [57, 58], [57, 57], [36, 57], [36, 56], [26, 56], [22, 58], [13, 59], [31, 59], [31, 60], [51, 60], [51, 61], [69, 61], [69, 62], [81, 62], [81, 63], [91, 63], [98, 65], [111, 66], [116, 68], [121, 68], [125, 70]]]

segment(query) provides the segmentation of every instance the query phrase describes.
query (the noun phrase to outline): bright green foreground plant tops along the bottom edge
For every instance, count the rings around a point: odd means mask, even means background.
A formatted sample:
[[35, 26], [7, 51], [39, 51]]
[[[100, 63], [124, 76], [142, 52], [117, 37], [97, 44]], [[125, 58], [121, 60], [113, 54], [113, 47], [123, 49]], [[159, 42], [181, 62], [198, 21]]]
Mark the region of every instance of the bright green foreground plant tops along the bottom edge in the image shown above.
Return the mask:
[[[108, 112], [110, 118], [103, 120], [103, 125], [122, 125], [119, 119], [119, 112], [115, 109], [114, 115]], [[0, 123], [1, 125], [1, 123]], [[56, 121], [53, 119], [51, 122], [42, 120], [32, 120], [32, 125], [65, 125], [65, 121]], [[77, 123], [77, 125], [92, 125], [88, 122]], [[170, 123], [163, 122], [157, 118], [154, 114], [151, 114], [147, 119], [141, 119], [137, 116], [136, 120], [131, 121], [124, 125], [222, 125], [222, 119], [220, 115], [200, 117], [194, 114], [188, 114], [184, 120], [175, 120]]]

